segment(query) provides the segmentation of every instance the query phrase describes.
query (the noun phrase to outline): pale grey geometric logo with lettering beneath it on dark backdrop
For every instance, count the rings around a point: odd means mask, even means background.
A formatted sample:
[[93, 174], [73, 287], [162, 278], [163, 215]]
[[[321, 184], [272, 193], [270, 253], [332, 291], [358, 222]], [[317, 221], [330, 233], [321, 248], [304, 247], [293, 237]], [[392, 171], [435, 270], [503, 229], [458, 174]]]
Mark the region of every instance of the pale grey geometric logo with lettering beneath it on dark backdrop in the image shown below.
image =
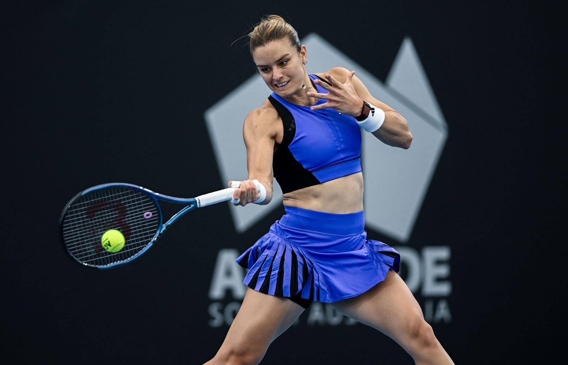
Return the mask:
[[[406, 243], [448, 135], [444, 116], [412, 41], [408, 37], [404, 39], [385, 83], [314, 33], [306, 36], [303, 44], [310, 60], [308, 73], [324, 72], [335, 66], [354, 70], [375, 98], [408, 120], [414, 136], [410, 149], [392, 148], [364, 132], [361, 153], [365, 223], [402, 244]], [[253, 75], [205, 112], [223, 184], [233, 179], [247, 179], [243, 121], [248, 112], [261, 106], [269, 93], [262, 78]], [[282, 190], [276, 181], [268, 206], [249, 204], [243, 208], [229, 203], [237, 232], [244, 232], [281, 204]], [[425, 318], [433, 323], [449, 323], [452, 316], [446, 297], [452, 292], [450, 247], [395, 248], [402, 258], [405, 282], [413, 293], [420, 292], [424, 299], [421, 305]], [[244, 270], [235, 263], [238, 255], [236, 249], [219, 250], [209, 293], [211, 327], [230, 325], [240, 308], [247, 287], [241, 283]], [[232, 301], [226, 303], [226, 299]], [[306, 312], [306, 325], [355, 323], [328, 304], [314, 302]]]

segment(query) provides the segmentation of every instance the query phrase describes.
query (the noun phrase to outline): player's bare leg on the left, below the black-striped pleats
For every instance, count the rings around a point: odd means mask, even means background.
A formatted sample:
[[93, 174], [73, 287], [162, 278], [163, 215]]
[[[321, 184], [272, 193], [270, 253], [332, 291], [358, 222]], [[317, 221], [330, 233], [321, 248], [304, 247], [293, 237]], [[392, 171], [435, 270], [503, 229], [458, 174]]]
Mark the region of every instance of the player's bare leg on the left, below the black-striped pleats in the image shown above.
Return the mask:
[[250, 288], [213, 364], [258, 364], [274, 339], [289, 328], [304, 308], [290, 299]]

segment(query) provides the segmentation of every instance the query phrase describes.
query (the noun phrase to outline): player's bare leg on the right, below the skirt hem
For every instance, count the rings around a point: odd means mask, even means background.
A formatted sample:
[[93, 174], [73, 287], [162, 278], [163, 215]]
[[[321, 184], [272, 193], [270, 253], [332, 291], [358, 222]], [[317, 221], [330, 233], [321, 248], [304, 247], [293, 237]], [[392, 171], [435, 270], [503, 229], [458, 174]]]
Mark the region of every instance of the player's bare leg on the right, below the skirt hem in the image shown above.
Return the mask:
[[332, 306], [394, 339], [416, 364], [453, 364], [424, 320], [414, 295], [394, 271], [389, 271], [385, 281], [365, 293]]

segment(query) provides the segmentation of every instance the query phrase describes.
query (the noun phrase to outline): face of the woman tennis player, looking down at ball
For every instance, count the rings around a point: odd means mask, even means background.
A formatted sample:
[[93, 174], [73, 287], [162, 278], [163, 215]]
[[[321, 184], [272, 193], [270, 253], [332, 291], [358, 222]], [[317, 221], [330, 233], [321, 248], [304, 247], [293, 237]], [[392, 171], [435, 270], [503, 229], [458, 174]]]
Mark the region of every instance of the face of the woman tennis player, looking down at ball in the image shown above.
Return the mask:
[[306, 47], [302, 46], [298, 53], [286, 39], [272, 41], [253, 52], [253, 60], [262, 79], [270, 90], [283, 98], [298, 93], [306, 83], [305, 59]]

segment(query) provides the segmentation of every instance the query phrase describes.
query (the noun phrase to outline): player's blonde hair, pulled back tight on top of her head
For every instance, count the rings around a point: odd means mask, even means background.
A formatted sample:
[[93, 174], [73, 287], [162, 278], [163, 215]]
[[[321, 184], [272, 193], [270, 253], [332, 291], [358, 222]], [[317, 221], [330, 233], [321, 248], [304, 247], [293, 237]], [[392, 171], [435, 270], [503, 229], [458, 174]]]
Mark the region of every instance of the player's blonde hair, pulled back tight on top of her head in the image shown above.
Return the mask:
[[268, 15], [262, 18], [261, 22], [254, 26], [254, 29], [248, 36], [251, 56], [255, 49], [263, 47], [274, 40], [287, 39], [298, 53], [300, 53], [302, 48], [298, 32], [279, 15]]

